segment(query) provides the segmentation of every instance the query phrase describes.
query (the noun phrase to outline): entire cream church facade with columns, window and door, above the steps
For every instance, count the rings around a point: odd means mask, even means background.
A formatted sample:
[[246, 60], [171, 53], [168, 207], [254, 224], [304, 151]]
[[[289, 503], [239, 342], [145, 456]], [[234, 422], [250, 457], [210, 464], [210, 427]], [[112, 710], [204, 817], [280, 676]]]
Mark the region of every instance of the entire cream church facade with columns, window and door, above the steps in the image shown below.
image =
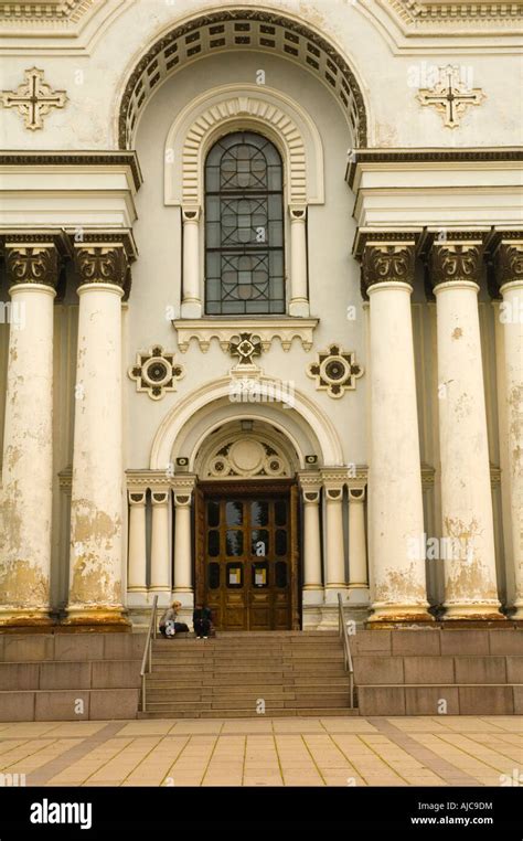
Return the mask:
[[0, 2], [1, 628], [523, 618], [522, 18]]

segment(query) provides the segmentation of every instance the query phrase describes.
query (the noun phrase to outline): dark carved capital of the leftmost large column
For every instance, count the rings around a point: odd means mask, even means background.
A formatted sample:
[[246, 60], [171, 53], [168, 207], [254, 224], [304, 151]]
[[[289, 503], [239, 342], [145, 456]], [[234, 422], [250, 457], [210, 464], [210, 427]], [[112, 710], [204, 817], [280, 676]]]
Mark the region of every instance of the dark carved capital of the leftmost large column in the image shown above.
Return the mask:
[[56, 289], [61, 257], [68, 252], [62, 232], [8, 232], [2, 238], [10, 287], [39, 284]]

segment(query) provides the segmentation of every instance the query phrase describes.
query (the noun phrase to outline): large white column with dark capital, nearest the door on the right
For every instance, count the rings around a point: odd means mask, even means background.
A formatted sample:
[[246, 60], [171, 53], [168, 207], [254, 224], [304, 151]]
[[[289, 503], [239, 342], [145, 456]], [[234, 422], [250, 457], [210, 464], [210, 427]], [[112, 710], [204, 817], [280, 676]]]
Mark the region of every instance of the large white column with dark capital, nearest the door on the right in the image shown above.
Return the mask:
[[410, 292], [415, 243], [366, 242], [371, 301], [371, 622], [429, 621]]

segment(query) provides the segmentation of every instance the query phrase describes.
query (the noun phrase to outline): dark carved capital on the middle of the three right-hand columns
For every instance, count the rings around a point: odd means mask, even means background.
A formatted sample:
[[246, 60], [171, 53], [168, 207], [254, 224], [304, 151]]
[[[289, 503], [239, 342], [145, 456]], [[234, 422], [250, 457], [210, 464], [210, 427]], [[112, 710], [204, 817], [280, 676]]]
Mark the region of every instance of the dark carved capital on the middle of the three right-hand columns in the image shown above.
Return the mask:
[[445, 239], [429, 235], [428, 265], [433, 288], [441, 284], [479, 285], [483, 269], [484, 232], [448, 231]]

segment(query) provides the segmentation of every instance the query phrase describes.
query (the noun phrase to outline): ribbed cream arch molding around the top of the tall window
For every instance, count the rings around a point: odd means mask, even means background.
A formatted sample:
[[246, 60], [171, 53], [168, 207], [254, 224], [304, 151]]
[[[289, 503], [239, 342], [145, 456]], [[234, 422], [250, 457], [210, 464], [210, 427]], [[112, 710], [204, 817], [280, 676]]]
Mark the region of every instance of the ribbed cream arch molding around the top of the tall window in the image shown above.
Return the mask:
[[209, 150], [225, 134], [264, 135], [281, 155], [287, 205], [323, 204], [323, 146], [309, 114], [277, 91], [226, 85], [196, 97], [172, 123], [164, 149], [164, 203], [203, 204]]

